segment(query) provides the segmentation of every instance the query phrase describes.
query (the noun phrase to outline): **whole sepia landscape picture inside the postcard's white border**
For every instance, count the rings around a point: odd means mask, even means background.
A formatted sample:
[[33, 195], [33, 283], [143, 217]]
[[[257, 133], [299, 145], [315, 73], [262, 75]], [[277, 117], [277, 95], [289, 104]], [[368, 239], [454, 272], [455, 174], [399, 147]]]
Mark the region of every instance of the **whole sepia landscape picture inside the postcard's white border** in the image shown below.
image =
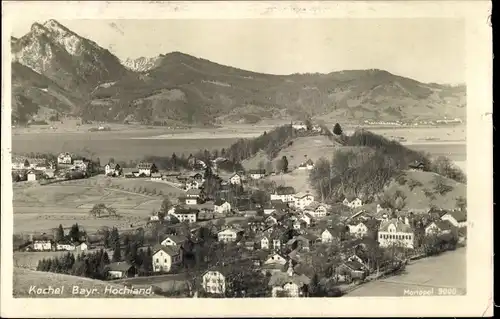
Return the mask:
[[45, 5], [2, 39], [14, 300], [465, 298], [491, 271], [466, 18]]

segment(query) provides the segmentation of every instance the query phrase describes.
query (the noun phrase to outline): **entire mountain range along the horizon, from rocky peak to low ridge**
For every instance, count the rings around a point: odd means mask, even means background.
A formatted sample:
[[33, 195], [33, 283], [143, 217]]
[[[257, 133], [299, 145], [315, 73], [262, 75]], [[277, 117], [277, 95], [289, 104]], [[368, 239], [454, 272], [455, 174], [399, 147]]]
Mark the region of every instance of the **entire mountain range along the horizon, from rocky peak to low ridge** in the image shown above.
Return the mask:
[[[213, 124], [310, 116], [411, 121], [465, 119], [466, 112], [465, 86], [426, 84], [383, 70], [271, 75], [181, 52], [120, 62], [54, 20], [36, 23], [13, 39], [12, 52], [14, 62], [38, 74], [17, 71], [13, 82], [19, 88], [17, 104], [23, 105], [18, 109], [52, 108], [49, 97], [21, 90], [30, 78], [43, 76], [61, 95], [53, 108], [86, 120]], [[63, 103], [63, 97], [75, 105]]]

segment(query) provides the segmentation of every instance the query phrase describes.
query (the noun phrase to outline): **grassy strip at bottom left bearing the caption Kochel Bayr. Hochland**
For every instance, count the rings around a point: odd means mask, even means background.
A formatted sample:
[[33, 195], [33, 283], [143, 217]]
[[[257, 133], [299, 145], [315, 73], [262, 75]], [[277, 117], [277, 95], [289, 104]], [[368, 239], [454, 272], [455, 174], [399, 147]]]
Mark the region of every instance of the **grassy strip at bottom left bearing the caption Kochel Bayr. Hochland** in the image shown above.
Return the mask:
[[[157, 295], [117, 295], [106, 292], [106, 287], [110, 288], [123, 288], [122, 285], [94, 280], [84, 277], [76, 277], [70, 275], [33, 271], [28, 269], [14, 268], [13, 275], [13, 295], [14, 298], [85, 298], [85, 295], [73, 294], [73, 286], [78, 286], [80, 289], [96, 289], [95, 293], [90, 294], [88, 298], [152, 298], [159, 297]], [[60, 295], [33, 295], [30, 294], [30, 288], [36, 286], [39, 288], [53, 288], [62, 289]], [[39, 314], [43, 314], [41, 311]]]

